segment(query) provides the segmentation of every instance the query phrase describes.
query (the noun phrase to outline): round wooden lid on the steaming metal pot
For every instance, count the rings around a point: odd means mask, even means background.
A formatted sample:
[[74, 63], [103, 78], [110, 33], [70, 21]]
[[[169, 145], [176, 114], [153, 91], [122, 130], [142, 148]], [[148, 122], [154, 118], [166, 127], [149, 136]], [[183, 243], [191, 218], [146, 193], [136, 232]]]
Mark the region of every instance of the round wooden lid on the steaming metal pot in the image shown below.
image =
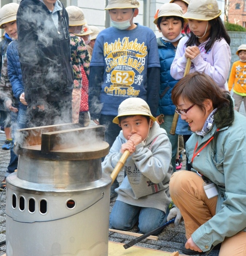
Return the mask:
[[52, 160], [88, 160], [109, 152], [104, 141], [105, 127], [80, 124], [48, 125], [17, 131], [17, 153], [29, 158]]

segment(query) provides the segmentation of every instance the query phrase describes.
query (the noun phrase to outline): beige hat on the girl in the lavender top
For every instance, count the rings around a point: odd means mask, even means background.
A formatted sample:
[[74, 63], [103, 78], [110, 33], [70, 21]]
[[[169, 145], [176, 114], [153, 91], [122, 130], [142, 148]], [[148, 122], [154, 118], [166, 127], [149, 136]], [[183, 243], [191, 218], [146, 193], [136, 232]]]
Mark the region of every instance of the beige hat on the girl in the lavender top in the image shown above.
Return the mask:
[[221, 14], [216, 0], [191, 0], [183, 17], [193, 20], [212, 20]]

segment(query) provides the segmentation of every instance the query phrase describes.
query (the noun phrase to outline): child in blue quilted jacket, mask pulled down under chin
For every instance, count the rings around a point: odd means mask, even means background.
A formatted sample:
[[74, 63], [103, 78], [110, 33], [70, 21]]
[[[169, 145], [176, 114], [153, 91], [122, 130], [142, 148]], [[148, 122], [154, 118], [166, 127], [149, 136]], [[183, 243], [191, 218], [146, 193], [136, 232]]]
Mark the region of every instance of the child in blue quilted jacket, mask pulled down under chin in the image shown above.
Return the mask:
[[[170, 75], [170, 67], [175, 57], [175, 52], [179, 40], [183, 37], [181, 34], [184, 22], [183, 12], [179, 5], [175, 3], [163, 4], [155, 15], [154, 23], [156, 24], [162, 37], [157, 38], [158, 52], [160, 58], [160, 98], [157, 116], [164, 114], [163, 120], [158, 123], [161, 128], [167, 131], [169, 140], [172, 144], [172, 166], [173, 171], [176, 171], [176, 153], [178, 136], [170, 135], [172, 120], [176, 106], [171, 100], [172, 89], [177, 83], [177, 80]], [[181, 168], [181, 164], [180, 164]]]

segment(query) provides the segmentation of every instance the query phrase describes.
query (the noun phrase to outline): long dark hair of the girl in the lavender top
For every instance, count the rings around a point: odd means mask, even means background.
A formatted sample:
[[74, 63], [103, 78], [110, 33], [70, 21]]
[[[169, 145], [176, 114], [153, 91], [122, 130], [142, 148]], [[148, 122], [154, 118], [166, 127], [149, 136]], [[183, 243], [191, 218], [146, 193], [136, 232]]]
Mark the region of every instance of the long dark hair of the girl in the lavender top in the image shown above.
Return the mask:
[[[208, 52], [208, 50], [212, 48], [216, 40], [220, 41], [222, 38], [224, 38], [226, 42], [230, 45], [230, 36], [228, 35], [226, 28], [220, 17], [208, 20], [208, 22], [211, 25], [211, 29], [209, 34], [210, 40], [208, 40], [208, 42], [205, 45], [206, 53]], [[186, 42], [186, 46], [198, 46], [200, 44], [199, 38], [197, 38], [192, 32], [190, 32], [189, 26], [186, 26], [184, 28], [184, 31], [186, 32], [186, 35], [190, 36], [190, 38]]]

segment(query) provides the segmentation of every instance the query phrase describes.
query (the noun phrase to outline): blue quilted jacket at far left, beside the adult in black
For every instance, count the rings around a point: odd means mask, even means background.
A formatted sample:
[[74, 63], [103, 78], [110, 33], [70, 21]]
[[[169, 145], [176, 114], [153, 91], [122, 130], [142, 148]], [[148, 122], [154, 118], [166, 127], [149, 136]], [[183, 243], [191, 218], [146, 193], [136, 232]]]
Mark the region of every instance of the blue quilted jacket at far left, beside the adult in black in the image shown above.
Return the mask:
[[24, 92], [22, 81], [22, 70], [20, 68], [18, 40], [13, 40], [7, 48], [8, 78], [11, 82], [12, 92], [15, 97], [15, 104], [20, 108], [27, 108], [20, 102], [20, 94]]

